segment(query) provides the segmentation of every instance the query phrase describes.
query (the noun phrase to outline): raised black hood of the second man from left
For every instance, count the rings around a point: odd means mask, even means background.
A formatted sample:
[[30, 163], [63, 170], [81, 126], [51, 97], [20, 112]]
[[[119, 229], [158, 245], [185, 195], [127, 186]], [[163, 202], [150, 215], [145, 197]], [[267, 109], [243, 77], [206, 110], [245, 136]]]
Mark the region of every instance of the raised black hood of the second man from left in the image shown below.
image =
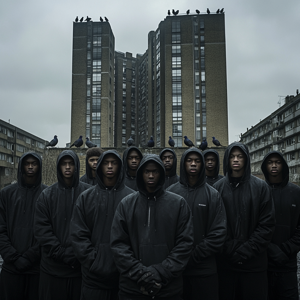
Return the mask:
[[[73, 176], [72, 184], [70, 187], [68, 187], [67, 184], [64, 183], [63, 175], [61, 173], [60, 167], [58, 166], [59, 161], [64, 156], [71, 156], [73, 158], [74, 164], [75, 164], [74, 176]], [[58, 155], [58, 158], [56, 160], [56, 174], [57, 174], [57, 184], [58, 184], [59, 188], [68, 190], [68, 189], [78, 187], [79, 186], [79, 177], [80, 177], [79, 172], [80, 172], [80, 162], [79, 162], [79, 158], [78, 158], [77, 154], [74, 151], [64, 150], [63, 152], [61, 152]]]

